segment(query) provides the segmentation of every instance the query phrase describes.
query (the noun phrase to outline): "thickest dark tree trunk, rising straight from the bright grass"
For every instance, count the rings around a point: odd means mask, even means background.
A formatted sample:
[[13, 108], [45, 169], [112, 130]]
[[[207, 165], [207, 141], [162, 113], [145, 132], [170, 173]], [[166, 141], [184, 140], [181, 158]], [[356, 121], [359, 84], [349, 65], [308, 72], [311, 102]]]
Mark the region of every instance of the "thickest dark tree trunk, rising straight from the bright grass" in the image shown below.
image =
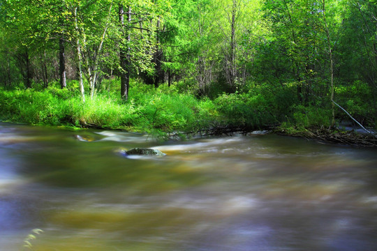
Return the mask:
[[[127, 22], [131, 22], [131, 6], [128, 6]], [[129, 43], [131, 42], [131, 34], [128, 30], [125, 31], [124, 25], [124, 6], [119, 4], [119, 23], [123, 36], [126, 36], [127, 45], [124, 44], [123, 39], [119, 45], [119, 56], [121, 66], [121, 99], [126, 101], [128, 99], [128, 88], [130, 85], [130, 69], [131, 69], [131, 56], [129, 54]]]

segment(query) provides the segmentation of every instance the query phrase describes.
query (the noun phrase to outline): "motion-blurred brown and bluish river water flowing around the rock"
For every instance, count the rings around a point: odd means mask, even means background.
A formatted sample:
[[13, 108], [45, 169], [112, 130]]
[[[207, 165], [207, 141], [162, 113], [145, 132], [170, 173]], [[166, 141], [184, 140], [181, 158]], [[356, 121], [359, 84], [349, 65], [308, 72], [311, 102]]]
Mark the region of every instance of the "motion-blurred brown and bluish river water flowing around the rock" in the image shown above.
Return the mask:
[[0, 123], [0, 250], [31, 229], [33, 250], [377, 250], [377, 149]]

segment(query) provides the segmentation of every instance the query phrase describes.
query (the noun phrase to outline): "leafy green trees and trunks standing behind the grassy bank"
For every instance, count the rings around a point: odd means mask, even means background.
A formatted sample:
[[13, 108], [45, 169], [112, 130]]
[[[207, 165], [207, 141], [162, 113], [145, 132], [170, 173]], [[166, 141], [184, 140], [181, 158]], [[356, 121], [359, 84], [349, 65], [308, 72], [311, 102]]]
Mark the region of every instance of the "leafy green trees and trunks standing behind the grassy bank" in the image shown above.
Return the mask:
[[263, 86], [286, 93], [272, 105], [377, 119], [375, 0], [1, 0], [0, 22], [4, 86], [66, 76], [82, 100], [114, 77], [123, 100], [129, 79], [212, 99]]

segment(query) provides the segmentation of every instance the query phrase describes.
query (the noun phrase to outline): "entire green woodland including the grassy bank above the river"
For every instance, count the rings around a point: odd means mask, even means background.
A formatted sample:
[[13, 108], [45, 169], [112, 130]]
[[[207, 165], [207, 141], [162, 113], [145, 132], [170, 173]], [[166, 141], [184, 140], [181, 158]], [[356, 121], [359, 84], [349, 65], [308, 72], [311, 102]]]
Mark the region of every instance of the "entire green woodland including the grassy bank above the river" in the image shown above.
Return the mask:
[[376, 0], [1, 0], [0, 23], [2, 121], [376, 128]]

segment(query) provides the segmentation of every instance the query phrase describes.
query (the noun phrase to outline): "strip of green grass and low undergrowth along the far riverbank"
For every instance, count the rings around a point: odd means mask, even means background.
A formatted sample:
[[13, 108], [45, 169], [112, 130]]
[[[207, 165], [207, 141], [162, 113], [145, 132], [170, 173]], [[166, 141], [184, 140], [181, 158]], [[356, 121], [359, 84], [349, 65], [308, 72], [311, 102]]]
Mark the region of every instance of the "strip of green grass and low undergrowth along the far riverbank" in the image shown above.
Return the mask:
[[[210, 100], [196, 98], [179, 84], [155, 89], [133, 81], [126, 102], [119, 98], [117, 79], [104, 81], [94, 98], [87, 96], [86, 102], [80, 98], [77, 82], [70, 82], [63, 90], [58, 86], [53, 83], [47, 89], [0, 89], [0, 118], [32, 125], [147, 132], [157, 137], [265, 128], [305, 136], [319, 129], [324, 132], [322, 129], [330, 128], [332, 119], [327, 101], [302, 105], [294, 84], [284, 89], [251, 86], [242, 93], [224, 93]], [[353, 100], [352, 107], [359, 109], [359, 114], [368, 108], [357, 106], [357, 102], [362, 103]], [[339, 112], [337, 117], [344, 118]]]

